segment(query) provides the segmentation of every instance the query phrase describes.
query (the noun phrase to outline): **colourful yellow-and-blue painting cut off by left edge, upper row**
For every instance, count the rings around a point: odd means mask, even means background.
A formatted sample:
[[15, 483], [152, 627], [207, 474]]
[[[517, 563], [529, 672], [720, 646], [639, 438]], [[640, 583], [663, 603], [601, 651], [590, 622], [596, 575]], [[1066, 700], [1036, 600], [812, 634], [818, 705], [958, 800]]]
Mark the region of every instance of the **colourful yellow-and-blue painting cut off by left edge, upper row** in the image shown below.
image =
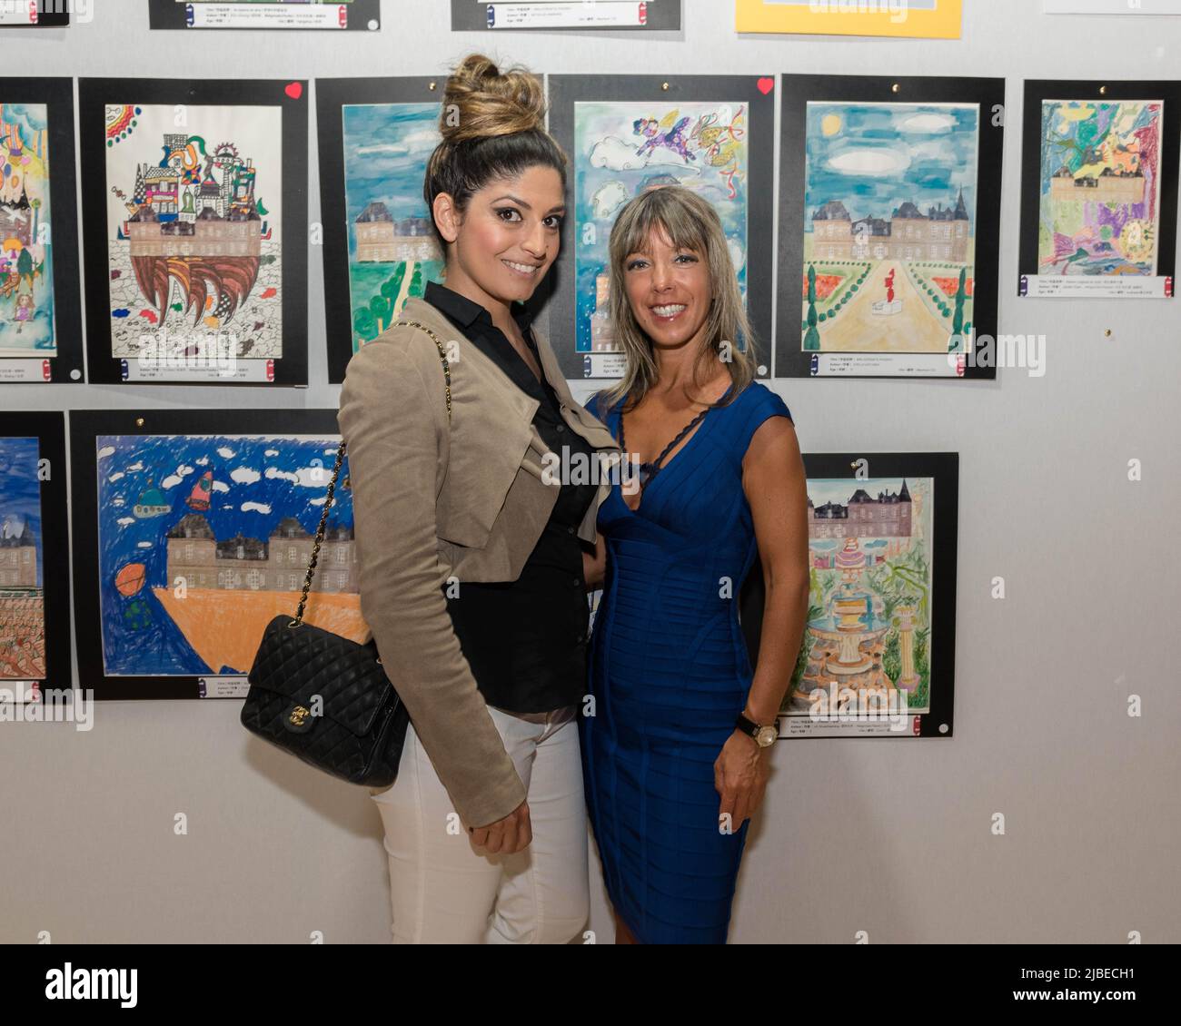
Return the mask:
[[0, 97], [0, 358], [57, 355], [51, 222], [48, 109]]

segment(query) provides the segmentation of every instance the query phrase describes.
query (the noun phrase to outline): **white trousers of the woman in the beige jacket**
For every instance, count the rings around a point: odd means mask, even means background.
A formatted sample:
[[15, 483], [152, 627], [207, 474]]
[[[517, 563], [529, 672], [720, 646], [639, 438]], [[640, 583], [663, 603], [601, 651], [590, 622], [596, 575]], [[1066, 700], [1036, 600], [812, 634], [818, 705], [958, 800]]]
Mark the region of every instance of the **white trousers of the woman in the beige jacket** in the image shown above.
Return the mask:
[[415, 733], [398, 778], [370, 792], [390, 856], [394, 943], [569, 943], [589, 915], [578, 706], [529, 718], [489, 706], [526, 786], [533, 843], [490, 855], [471, 843]]

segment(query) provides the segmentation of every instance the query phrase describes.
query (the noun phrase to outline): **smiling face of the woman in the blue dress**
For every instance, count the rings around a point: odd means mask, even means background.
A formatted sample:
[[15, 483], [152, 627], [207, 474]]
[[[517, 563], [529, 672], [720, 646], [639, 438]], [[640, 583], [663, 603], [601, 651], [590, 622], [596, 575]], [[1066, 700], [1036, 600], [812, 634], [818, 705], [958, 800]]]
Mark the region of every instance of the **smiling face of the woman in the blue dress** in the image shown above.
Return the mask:
[[710, 314], [710, 268], [694, 249], [674, 247], [654, 228], [642, 250], [624, 260], [627, 301], [637, 324], [655, 347], [697, 341]]

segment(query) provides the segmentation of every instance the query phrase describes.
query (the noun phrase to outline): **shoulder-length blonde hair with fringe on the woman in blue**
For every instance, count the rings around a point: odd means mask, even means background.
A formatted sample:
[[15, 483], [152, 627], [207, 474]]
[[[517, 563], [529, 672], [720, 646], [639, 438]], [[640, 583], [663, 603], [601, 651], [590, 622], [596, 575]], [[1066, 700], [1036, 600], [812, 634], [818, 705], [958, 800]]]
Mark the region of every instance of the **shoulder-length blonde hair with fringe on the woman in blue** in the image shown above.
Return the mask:
[[724, 362], [733, 388], [724, 401], [711, 404], [729, 405], [755, 379], [756, 360], [755, 336], [730, 260], [725, 230], [712, 204], [681, 185], [664, 185], [629, 201], [619, 211], [611, 229], [611, 331], [627, 357], [627, 370], [619, 381], [603, 390], [600, 409], [609, 410], [624, 397], [629, 397], [635, 405], [657, 383], [659, 368], [652, 340], [635, 320], [627, 301], [624, 264], [628, 254], [647, 248], [648, 236], [658, 229], [677, 249], [692, 249], [705, 259], [713, 301], [693, 359], [692, 381], [693, 387], [699, 388], [703, 378], [712, 377], [702, 372], [710, 361], [723, 359], [723, 344], [729, 342], [729, 359]]

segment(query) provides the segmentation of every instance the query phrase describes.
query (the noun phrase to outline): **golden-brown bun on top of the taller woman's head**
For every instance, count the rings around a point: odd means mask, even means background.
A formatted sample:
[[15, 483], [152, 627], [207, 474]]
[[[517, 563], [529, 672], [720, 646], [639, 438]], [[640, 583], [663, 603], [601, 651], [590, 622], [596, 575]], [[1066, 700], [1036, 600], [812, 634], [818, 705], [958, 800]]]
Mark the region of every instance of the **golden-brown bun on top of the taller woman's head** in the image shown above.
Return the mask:
[[501, 72], [491, 58], [471, 53], [451, 72], [439, 111], [444, 142], [537, 130], [546, 130], [546, 91], [528, 68]]

